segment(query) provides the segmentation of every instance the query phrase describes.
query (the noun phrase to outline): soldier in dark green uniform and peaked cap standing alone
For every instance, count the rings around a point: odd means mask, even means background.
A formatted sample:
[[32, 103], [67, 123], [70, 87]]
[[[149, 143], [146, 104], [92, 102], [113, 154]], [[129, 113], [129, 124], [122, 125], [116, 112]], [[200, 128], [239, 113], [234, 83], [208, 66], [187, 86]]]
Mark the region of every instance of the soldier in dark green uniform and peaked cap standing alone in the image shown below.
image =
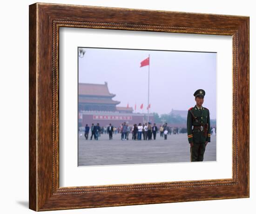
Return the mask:
[[202, 106], [205, 91], [198, 89], [194, 93], [195, 106], [188, 111], [187, 129], [190, 143], [190, 161], [203, 161], [207, 143], [210, 142], [209, 110]]

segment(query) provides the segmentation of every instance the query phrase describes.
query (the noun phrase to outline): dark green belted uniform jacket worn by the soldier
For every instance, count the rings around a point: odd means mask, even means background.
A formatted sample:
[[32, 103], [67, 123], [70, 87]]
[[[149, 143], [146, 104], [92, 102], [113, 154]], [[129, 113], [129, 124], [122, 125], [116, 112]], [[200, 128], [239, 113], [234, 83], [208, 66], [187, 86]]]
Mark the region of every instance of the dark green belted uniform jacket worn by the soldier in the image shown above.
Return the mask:
[[[190, 110], [193, 112], [194, 117], [192, 116]], [[204, 136], [204, 131], [200, 129], [192, 130], [192, 126], [201, 126], [201, 123], [206, 124], [208, 123], [208, 131], [207, 136]], [[189, 143], [205, 143], [206, 141], [210, 142], [211, 137], [211, 129], [210, 129], [210, 114], [209, 110], [205, 107], [202, 107], [202, 110], [199, 110], [196, 105], [192, 107], [188, 111], [188, 118], [187, 118], [187, 130], [188, 130], [188, 140]]]

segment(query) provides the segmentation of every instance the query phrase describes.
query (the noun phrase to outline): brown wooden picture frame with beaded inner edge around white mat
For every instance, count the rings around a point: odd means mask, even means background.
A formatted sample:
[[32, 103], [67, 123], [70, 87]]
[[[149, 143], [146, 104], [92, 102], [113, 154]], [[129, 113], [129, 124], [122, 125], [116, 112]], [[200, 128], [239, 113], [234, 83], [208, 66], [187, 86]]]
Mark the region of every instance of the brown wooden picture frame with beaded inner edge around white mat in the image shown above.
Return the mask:
[[[59, 187], [59, 28], [230, 35], [232, 179]], [[35, 211], [249, 197], [249, 17], [36, 3], [29, 6], [29, 208]]]

